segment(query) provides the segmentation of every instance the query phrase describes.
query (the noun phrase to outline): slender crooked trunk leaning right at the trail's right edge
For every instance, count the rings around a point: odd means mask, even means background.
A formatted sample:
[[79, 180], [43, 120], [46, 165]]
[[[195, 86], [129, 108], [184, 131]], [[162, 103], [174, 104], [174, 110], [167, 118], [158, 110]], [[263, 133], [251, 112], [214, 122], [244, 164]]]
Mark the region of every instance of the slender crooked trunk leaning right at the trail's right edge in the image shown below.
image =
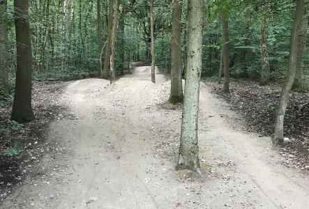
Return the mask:
[[302, 13], [303, 7], [304, 7], [304, 0], [297, 0], [295, 19], [292, 24], [292, 31], [291, 31], [291, 42], [290, 42], [290, 53], [289, 53], [289, 77], [287, 77], [287, 82], [284, 88], [282, 88], [281, 92], [280, 104], [276, 115], [276, 127], [275, 127], [275, 134], [273, 136], [273, 146], [284, 143], [283, 124], [285, 121], [285, 111], [289, 103], [289, 93], [294, 83], [296, 74], [297, 52], [299, 47], [298, 38], [299, 38], [299, 31], [301, 29], [301, 20], [303, 18]]

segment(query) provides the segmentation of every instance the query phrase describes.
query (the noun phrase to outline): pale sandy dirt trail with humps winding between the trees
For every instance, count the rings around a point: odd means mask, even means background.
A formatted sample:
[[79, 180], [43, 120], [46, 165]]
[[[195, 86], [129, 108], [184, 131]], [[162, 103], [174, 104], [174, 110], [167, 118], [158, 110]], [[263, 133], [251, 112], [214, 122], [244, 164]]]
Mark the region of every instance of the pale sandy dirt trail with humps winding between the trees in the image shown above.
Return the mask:
[[152, 84], [149, 75], [139, 67], [111, 86], [102, 79], [69, 84], [63, 100], [76, 119], [50, 125], [56, 148], [1, 207], [309, 208], [308, 177], [282, 167], [270, 139], [243, 132], [204, 84], [204, 176], [175, 171], [181, 108], [165, 103], [167, 78]]

